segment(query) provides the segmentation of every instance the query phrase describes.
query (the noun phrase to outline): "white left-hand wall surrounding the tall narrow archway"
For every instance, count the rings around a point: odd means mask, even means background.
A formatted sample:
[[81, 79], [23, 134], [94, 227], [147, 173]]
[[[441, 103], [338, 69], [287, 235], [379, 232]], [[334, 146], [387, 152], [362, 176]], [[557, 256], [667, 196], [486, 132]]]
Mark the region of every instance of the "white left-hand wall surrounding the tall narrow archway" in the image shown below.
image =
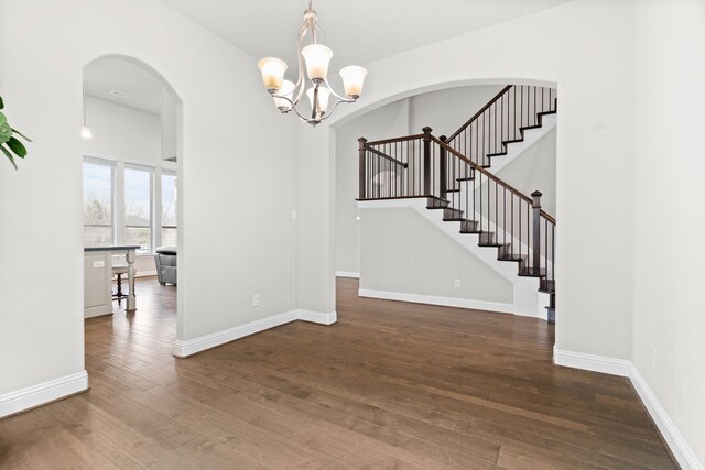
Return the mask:
[[294, 123], [256, 59], [158, 0], [3, 0], [6, 111], [34, 142], [0, 172], [0, 395], [84, 370], [80, 77], [106, 54], [153, 67], [183, 102], [177, 339], [295, 307]]

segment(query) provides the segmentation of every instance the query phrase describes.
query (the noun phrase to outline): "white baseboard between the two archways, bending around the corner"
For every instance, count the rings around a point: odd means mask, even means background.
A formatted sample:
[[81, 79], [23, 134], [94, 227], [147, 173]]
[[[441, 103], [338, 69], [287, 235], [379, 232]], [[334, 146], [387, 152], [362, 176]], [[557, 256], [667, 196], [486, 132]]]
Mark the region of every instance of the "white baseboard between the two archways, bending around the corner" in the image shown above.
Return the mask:
[[217, 346], [225, 345], [226, 342], [235, 341], [236, 339], [245, 338], [246, 336], [254, 335], [256, 332], [264, 331], [294, 320], [333, 325], [337, 320], [337, 314], [335, 311], [330, 314], [323, 314], [310, 310], [291, 310], [262, 318], [261, 320], [254, 320], [249, 324], [228, 328], [226, 330], [216, 331], [210, 335], [205, 335], [199, 338], [186, 341], [176, 339], [174, 340], [174, 356], [177, 358], [187, 358], [197, 352], [205, 351], [206, 349], [215, 348]]

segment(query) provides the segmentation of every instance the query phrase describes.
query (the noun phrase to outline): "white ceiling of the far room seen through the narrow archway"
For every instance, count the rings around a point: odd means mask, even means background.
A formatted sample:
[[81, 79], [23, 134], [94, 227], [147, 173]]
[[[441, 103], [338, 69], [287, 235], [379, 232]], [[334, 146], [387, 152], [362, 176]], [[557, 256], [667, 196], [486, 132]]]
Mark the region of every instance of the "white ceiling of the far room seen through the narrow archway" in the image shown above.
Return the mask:
[[[110, 91], [129, 95], [118, 97]], [[121, 58], [99, 58], [86, 66], [86, 94], [160, 116], [162, 85], [147, 69]]]

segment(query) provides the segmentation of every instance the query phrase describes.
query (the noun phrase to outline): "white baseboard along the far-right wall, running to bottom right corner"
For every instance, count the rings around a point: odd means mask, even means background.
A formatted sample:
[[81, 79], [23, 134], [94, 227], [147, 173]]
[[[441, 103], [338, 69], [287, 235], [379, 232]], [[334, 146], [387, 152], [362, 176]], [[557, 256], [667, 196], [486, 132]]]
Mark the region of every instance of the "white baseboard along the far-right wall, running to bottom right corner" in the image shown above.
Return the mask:
[[698, 462], [697, 457], [695, 457], [695, 453], [691, 450], [685, 439], [683, 439], [675, 424], [673, 424], [671, 417], [665, 409], [663, 409], [659, 400], [653, 392], [651, 392], [651, 389], [649, 389], [647, 381], [643, 380], [633, 364], [631, 365], [630, 379], [643, 405], [647, 407], [649, 415], [651, 415], [651, 419], [653, 419], [653, 423], [661, 431], [661, 435], [671, 448], [671, 452], [673, 452], [673, 457], [675, 457], [681, 468], [683, 470], [703, 470], [703, 464]]

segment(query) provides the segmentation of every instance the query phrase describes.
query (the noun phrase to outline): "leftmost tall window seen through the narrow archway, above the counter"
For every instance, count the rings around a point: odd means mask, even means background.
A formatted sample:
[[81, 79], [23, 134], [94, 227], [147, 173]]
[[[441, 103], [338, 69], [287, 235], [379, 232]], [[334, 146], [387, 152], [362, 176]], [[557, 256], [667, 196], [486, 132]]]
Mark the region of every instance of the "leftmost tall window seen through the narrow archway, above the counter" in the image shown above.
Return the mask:
[[112, 244], [112, 188], [115, 162], [84, 157], [84, 244]]

